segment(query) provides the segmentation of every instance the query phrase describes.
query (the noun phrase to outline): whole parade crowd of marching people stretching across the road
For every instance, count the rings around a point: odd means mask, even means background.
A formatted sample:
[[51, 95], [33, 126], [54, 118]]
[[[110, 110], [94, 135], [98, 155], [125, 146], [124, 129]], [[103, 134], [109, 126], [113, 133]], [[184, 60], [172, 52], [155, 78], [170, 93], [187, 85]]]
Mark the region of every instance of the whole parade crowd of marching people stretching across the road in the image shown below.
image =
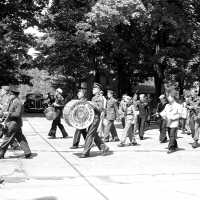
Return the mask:
[[[94, 109], [94, 120], [87, 129], [77, 129], [73, 137], [72, 149], [79, 147], [81, 136], [85, 140], [81, 158], [90, 156], [94, 144], [103, 155], [109, 152], [108, 142], [118, 142], [118, 147], [136, 146], [137, 140], [144, 140], [145, 130], [152, 118], [159, 124], [160, 143], [168, 142], [168, 153], [178, 149], [177, 132], [181, 129], [184, 134], [191, 134], [194, 140], [192, 147], [198, 147], [200, 131], [200, 97], [193, 92], [190, 95], [177, 99], [176, 91], [168, 89], [160, 95], [156, 112], [152, 115], [150, 101], [145, 94], [134, 94], [132, 97], [124, 94], [120, 102], [114, 98], [114, 91], [107, 90], [107, 97], [103, 95], [103, 87], [94, 83], [93, 98], [90, 104]], [[13, 149], [20, 147], [25, 158], [32, 156], [26, 137], [22, 133], [23, 105], [19, 99], [19, 90], [16, 86], [3, 86], [0, 95], [0, 117], [3, 141], [0, 145], [0, 159], [9, 146]], [[88, 101], [87, 89], [80, 88], [77, 97], [79, 101]], [[61, 123], [62, 110], [65, 105], [62, 89], [56, 89], [54, 99], [49, 101], [57, 115], [52, 121], [49, 138], [56, 138], [56, 129], [59, 127], [63, 138], [68, 133]], [[119, 138], [115, 121], [121, 122], [123, 133]], [[136, 139], [138, 135], [138, 139]]]

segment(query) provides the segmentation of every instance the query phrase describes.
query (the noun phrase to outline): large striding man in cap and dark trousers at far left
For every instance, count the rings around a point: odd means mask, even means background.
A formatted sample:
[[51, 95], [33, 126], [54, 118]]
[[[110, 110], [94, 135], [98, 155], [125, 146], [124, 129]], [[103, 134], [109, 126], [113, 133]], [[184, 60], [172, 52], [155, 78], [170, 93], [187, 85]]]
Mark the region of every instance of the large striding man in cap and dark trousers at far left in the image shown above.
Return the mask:
[[31, 158], [31, 150], [28, 142], [22, 133], [22, 103], [19, 99], [19, 90], [17, 86], [12, 86], [10, 89], [10, 102], [8, 105], [8, 111], [4, 112], [6, 116], [5, 120], [5, 135], [3, 142], [0, 145], [0, 158], [4, 158], [4, 155], [8, 149], [8, 146], [14, 139], [18, 141], [21, 149], [24, 151], [25, 158]]

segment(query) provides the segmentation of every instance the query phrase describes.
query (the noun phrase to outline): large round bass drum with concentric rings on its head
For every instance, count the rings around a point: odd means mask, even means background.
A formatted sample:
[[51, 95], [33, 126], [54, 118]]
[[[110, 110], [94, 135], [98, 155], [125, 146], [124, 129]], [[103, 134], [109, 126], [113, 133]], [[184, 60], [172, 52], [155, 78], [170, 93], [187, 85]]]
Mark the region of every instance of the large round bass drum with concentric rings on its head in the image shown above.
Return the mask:
[[65, 122], [74, 128], [88, 128], [94, 120], [94, 108], [88, 101], [71, 100], [63, 109]]

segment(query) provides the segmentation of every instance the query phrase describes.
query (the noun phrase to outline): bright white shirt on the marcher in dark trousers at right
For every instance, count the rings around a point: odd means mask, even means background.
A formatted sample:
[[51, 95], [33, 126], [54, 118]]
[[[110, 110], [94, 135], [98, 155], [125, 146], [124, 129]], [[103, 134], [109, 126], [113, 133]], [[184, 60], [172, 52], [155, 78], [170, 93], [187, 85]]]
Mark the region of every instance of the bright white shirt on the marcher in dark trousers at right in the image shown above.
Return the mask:
[[167, 120], [167, 127], [177, 128], [179, 126], [179, 118], [182, 114], [182, 106], [177, 102], [172, 104], [167, 104], [165, 109], [160, 113], [160, 115]]

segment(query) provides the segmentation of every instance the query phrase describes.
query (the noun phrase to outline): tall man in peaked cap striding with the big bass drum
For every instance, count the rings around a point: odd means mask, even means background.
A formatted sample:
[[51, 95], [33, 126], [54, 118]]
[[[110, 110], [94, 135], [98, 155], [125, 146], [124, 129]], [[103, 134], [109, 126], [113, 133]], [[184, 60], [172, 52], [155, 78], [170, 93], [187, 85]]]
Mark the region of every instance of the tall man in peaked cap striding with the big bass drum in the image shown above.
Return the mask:
[[100, 123], [100, 115], [103, 112], [103, 101], [100, 95], [100, 91], [102, 91], [102, 86], [98, 83], [94, 83], [92, 91], [94, 97], [92, 98], [91, 105], [93, 105], [94, 107], [95, 116], [92, 124], [88, 128], [84, 150], [80, 158], [86, 158], [89, 156], [90, 150], [93, 146], [93, 141], [95, 142], [99, 150], [103, 152], [103, 154], [106, 154], [109, 151], [109, 147], [105, 145], [97, 132]]

